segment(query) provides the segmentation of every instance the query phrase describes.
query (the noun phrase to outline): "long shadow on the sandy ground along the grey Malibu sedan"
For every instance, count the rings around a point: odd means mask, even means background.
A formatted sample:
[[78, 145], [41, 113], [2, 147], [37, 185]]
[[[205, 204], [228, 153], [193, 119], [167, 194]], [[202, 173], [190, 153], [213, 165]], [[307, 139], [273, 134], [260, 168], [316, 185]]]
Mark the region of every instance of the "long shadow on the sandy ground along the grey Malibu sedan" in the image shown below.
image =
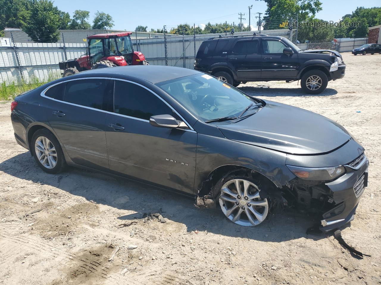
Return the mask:
[[[72, 167], [59, 174], [45, 173], [37, 166], [29, 152], [23, 152], [3, 161], [0, 163], [0, 171], [38, 183], [41, 187], [44, 185], [57, 187], [93, 203], [125, 211], [125, 214], [117, 217], [120, 224], [141, 220], [149, 213], [160, 212], [169, 223], [184, 224], [187, 232], [197, 229], [202, 234], [213, 233], [272, 242], [301, 237], [319, 240], [326, 237], [326, 234], [306, 234], [307, 228], [313, 225], [313, 221], [305, 214], [282, 211], [270, 215], [258, 226], [238, 226], [227, 220], [219, 209], [198, 209], [194, 206], [194, 198], [123, 177]], [[35, 185], [30, 188], [35, 189]], [[28, 186], [23, 188], [22, 192], [27, 193]]]

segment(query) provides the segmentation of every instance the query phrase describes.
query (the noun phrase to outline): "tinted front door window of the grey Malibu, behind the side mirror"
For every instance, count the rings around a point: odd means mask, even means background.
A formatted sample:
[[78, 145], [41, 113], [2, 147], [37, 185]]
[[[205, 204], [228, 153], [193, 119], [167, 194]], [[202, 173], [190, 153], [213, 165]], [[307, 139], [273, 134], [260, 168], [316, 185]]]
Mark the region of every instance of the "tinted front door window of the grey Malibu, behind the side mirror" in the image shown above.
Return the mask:
[[115, 80], [114, 112], [149, 120], [155, 115], [179, 116], [155, 94], [130, 82]]

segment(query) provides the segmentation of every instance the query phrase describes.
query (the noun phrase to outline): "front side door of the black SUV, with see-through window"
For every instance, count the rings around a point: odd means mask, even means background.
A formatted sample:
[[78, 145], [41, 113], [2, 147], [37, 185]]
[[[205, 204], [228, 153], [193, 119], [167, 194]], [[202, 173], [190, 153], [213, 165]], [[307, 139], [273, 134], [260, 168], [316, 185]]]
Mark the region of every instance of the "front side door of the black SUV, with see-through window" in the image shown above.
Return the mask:
[[296, 78], [299, 69], [298, 53], [288, 55], [283, 49], [288, 47], [281, 40], [261, 39], [262, 78]]

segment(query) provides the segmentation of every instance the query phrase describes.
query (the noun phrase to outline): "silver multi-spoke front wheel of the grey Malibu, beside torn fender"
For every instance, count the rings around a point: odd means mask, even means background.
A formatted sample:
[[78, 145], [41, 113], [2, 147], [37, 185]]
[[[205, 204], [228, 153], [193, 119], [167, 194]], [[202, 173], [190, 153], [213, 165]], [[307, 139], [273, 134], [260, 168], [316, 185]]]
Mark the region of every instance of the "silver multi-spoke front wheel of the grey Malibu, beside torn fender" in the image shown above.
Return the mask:
[[232, 179], [221, 187], [219, 205], [224, 215], [241, 226], [262, 223], [269, 212], [269, 203], [259, 195], [261, 190], [246, 179]]

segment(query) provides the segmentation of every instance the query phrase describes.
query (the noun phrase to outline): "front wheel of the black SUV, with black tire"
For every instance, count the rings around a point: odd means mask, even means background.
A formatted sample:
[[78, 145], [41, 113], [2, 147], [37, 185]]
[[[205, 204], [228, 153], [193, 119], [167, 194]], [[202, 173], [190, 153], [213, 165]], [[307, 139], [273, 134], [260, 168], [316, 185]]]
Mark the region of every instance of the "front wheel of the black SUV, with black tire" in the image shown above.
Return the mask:
[[320, 94], [328, 84], [327, 75], [321, 70], [310, 70], [302, 76], [300, 85], [304, 92], [308, 94]]

